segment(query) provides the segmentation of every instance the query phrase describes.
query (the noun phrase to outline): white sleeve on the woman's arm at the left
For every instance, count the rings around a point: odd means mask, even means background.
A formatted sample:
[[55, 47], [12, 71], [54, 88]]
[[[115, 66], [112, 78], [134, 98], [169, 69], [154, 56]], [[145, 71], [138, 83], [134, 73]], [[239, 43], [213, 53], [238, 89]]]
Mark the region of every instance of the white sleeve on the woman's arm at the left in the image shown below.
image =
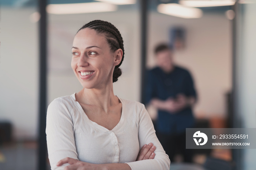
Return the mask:
[[60, 170], [69, 165], [56, 166], [63, 158], [78, 159], [70, 110], [69, 104], [60, 98], [53, 100], [47, 110], [46, 139], [52, 170]]

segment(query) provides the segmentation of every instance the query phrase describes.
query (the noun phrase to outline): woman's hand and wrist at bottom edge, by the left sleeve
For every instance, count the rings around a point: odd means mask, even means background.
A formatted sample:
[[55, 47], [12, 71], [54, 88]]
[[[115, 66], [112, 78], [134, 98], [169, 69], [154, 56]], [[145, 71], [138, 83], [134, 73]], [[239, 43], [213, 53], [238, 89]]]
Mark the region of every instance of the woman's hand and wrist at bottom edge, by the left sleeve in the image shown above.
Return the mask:
[[66, 166], [64, 170], [103, 170], [104, 167], [101, 164], [92, 164], [87, 162], [78, 161], [73, 158], [64, 158], [61, 159], [56, 166], [61, 166], [64, 163], [69, 163], [69, 166]]

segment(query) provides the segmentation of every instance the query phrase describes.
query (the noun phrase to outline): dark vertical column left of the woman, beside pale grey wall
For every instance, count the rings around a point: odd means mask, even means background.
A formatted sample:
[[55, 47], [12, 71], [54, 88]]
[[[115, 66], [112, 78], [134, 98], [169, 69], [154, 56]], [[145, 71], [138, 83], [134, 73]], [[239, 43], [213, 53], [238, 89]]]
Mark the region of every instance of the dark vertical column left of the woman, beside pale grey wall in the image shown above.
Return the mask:
[[39, 141], [38, 170], [46, 170], [46, 98], [47, 98], [47, 0], [38, 0], [39, 12]]

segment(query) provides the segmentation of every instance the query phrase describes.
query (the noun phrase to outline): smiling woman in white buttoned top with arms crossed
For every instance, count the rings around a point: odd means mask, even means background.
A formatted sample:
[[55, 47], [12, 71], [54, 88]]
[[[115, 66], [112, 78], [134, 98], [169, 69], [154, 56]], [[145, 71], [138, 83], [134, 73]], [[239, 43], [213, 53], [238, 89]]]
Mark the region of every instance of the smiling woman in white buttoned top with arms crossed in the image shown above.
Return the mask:
[[83, 89], [48, 107], [52, 169], [169, 170], [144, 105], [113, 93], [123, 59], [123, 39], [111, 23], [94, 20], [75, 35], [71, 67]]

